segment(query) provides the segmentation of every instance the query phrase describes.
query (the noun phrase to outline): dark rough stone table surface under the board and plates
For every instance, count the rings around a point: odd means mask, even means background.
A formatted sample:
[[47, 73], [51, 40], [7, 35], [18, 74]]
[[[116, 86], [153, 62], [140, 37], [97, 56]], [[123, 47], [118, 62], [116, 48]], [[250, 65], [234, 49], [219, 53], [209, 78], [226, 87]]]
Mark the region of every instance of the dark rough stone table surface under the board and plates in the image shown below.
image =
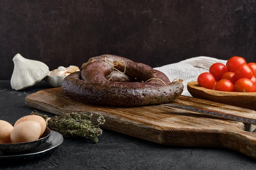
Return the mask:
[[[9, 80], [0, 80], [0, 119], [15, 122], [29, 115], [34, 109], [25, 105], [24, 98], [45, 88], [51, 87], [42, 81], [15, 91]], [[26, 161], [1, 161], [0, 169], [253, 170], [256, 160], [225, 148], [166, 146], [103, 129], [96, 144], [64, 138], [60, 146], [44, 156]]]

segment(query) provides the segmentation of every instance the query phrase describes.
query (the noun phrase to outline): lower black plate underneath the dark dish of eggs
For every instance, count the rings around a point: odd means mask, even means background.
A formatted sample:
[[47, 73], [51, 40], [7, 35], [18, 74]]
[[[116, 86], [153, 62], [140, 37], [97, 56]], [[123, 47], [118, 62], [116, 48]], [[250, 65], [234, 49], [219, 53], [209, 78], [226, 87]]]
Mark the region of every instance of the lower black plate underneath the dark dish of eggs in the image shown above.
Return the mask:
[[63, 136], [60, 133], [51, 130], [49, 139], [38, 147], [22, 153], [5, 153], [0, 151], [0, 160], [26, 160], [37, 158], [59, 146], [62, 142]]

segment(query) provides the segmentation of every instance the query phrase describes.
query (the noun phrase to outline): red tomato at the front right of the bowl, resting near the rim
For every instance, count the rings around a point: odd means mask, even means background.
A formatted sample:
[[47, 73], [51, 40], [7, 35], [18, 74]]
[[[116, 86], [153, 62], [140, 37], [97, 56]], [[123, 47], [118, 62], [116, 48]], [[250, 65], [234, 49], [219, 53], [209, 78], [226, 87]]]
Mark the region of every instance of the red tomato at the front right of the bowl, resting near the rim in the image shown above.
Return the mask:
[[236, 81], [235, 91], [237, 92], [254, 92], [255, 87], [250, 79], [242, 78]]

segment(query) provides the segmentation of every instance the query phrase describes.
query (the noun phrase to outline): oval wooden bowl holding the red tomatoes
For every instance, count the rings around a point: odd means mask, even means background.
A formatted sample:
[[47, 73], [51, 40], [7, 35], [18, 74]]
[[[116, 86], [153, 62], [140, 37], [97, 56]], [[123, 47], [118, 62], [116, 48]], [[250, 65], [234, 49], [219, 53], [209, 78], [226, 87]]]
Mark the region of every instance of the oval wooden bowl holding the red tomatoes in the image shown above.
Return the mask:
[[198, 82], [189, 82], [187, 88], [193, 97], [256, 111], [256, 92], [215, 91], [201, 87]]

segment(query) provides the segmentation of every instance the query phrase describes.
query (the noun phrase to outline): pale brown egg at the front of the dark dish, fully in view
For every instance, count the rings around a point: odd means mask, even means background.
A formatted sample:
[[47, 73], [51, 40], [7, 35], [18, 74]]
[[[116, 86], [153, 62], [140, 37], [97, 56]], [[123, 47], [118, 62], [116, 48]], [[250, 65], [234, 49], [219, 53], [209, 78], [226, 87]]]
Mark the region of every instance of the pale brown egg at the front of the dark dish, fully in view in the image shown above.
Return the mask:
[[17, 124], [10, 135], [12, 143], [32, 142], [38, 140], [41, 133], [41, 124], [28, 120]]

